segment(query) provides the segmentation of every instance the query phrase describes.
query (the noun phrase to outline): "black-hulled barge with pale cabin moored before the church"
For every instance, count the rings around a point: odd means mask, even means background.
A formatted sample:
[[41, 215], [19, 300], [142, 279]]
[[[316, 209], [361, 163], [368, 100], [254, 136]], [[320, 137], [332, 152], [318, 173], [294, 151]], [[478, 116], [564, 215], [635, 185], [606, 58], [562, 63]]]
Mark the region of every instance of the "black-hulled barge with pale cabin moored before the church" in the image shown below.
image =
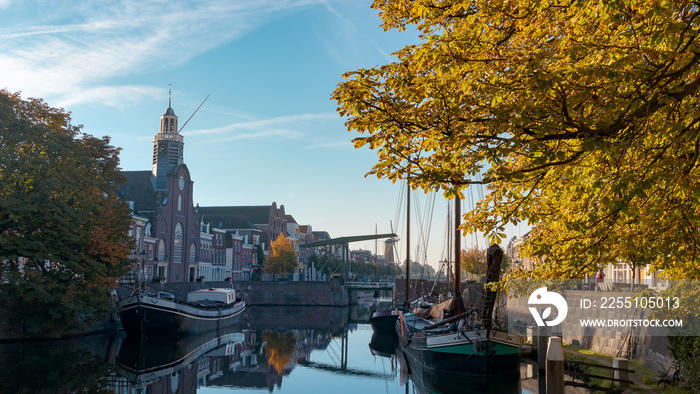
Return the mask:
[[234, 289], [202, 289], [187, 302], [170, 293], [135, 293], [118, 303], [122, 326], [131, 336], [194, 334], [235, 324], [245, 309]]

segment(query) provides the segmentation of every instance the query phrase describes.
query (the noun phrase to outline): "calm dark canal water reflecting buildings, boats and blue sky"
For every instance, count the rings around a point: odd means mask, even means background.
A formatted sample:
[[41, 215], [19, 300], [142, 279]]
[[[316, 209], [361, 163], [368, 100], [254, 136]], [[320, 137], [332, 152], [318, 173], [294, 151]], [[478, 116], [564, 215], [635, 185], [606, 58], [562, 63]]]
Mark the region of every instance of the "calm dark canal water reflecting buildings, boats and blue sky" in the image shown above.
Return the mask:
[[[521, 379], [417, 384], [391, 339], [373, 337], [376, 301], [352, 308], [250, 307], [230, 330], [133, 340], [124, 333], [0, 344], [0, 393], [537, 393]], [[371, 345], [371, 346], [370, 346]]]

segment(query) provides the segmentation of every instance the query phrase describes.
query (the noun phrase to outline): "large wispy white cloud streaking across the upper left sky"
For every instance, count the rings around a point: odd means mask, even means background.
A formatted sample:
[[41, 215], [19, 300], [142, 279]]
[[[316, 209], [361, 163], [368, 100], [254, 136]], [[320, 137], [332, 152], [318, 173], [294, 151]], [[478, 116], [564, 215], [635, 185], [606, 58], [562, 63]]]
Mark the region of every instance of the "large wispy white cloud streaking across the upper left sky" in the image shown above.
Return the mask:
[[[119, 106], [115, 91], [131, 91], [136, 96], [122, 100], [134, 100], [154, 88], [113, 86], [111, 78], [167, 70], [242, 36], [275, 13], [312, 2], [74, 1], [37, 18], [3, 13], [0, 87], [61, 106], [93, 101]], [[27, 3], [21, 6], [30, 8]], [[9, 11], [21, 6], [0, 0], [0, 8]]]

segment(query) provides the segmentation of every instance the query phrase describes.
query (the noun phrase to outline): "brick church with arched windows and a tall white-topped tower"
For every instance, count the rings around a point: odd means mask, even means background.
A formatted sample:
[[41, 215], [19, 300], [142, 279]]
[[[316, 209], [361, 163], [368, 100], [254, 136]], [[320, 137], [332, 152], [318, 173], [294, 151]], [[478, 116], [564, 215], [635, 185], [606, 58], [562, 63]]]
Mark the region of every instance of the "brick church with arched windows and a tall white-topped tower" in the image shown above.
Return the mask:
[[184, 141], [178, 117], [168, 109], [153, 136], [150, 171], [124, 171], [127, 182], [118, 190], [133, 208], [132, 255], [142, 279], [193, 281], [200, 256], [200, 215], [192, 201], [193, 182], [183, 160]]

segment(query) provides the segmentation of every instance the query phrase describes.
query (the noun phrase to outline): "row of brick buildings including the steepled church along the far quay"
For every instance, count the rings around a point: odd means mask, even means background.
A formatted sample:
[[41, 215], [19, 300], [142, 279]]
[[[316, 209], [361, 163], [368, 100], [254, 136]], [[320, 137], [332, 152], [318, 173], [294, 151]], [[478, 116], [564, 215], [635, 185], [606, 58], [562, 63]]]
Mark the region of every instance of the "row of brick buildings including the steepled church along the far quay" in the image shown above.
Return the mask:
[[[178, 117], [168, 109], [153, 137], [151, 170], [125, 171], [126, 183], [117, 193], [132, 209], [130, 235], [135, 261], [127, 280], [191, 282], [250, 280], [258, 259], [270, 251], [270, 242], [283, 235], [298, 252], [295, 275], [311, 279], [306, 261], [310, 253], [300, 245], [329, 239], [314, 232], [272, 202], [259, 206], [200, 207], [192, 198], [193, 181], [184, 163], [184, 139]], [[264, 273], [261, 273], [264, 275]]]

